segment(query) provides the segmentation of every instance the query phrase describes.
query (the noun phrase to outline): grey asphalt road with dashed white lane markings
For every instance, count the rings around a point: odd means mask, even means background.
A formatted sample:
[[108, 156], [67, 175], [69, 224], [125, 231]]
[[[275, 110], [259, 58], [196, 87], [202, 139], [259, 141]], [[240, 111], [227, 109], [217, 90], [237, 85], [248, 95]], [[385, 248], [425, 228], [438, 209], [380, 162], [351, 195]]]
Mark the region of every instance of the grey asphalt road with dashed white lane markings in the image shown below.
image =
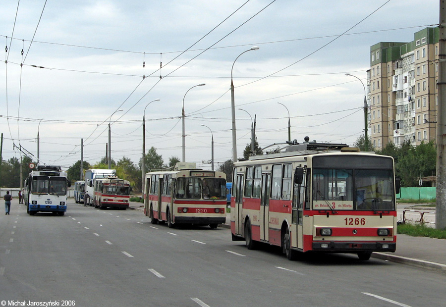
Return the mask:
[[140, 211], [68, 206], [65, 216], [17, 204], [0, 215], [1, 306], [446, 304], [435, 271], [344, 254], [289, 261], [278, 248], [249, 251], [221, 227], [169, 229]]

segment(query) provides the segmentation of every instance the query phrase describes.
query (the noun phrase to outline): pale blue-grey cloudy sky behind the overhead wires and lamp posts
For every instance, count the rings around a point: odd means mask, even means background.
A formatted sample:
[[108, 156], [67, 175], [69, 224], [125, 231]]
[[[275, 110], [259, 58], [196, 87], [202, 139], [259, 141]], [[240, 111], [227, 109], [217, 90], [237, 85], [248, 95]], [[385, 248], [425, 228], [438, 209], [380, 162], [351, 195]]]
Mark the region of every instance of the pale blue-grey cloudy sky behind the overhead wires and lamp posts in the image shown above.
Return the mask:
[[261, 147], [287, 140], [285, 106], [292, 139], [351, 145], [363, 134], [364, 90], [344, 74], [366, 83], [370, 46], [409, 42], [435, 26], [439, 1], [420, 3], [3, 0], [3, 160], [20, 157], [14, 145], [36, 159], [39, 131], [42, 163], [68, 168], [83, 139], [84, 160], [94, 164], [111, 122], [112, 158], [138, 163], [145, 108], [146, 149], [181, 159], [183, 99], [186, 161], [210, 168], [210, 130], [215, 161], [230, 159], [231, 66], [252, 46], [260, 49], [233, 68], [238, 157], [250, 142], [248, 113]]

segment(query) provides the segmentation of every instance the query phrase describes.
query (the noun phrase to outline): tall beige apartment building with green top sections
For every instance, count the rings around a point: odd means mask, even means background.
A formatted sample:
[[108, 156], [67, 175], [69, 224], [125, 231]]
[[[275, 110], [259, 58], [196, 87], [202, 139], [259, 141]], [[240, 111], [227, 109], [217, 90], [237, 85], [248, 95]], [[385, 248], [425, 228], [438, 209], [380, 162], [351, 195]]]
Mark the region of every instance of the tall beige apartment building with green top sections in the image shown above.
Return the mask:
[[375, 149], [436, 139], [437, 28], [425, 28], [409, 43], [370, 48], [367, 71], [369, 137]]

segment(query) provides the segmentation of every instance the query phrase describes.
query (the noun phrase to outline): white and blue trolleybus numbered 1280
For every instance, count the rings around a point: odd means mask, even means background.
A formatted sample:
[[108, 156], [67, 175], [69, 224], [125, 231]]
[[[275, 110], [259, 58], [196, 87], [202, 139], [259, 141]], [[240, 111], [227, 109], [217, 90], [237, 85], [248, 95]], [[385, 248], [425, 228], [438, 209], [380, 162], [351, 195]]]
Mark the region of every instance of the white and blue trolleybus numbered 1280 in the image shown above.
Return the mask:
[[39, 211], [65, 214], [67, 186], [70, 186], [67, 174], [60, 166], [37, 165], [25, 180], [26, 212], [30, 215]]

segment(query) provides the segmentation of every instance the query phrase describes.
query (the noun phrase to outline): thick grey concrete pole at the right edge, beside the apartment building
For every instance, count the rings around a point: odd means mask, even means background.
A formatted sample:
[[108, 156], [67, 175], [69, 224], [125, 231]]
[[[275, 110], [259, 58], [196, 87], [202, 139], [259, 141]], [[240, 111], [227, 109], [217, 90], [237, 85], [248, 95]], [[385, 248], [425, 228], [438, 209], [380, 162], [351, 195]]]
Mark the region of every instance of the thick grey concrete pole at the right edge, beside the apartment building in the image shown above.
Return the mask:
[[446, 228], [446, 3], [440, 0], [435, 227]]

